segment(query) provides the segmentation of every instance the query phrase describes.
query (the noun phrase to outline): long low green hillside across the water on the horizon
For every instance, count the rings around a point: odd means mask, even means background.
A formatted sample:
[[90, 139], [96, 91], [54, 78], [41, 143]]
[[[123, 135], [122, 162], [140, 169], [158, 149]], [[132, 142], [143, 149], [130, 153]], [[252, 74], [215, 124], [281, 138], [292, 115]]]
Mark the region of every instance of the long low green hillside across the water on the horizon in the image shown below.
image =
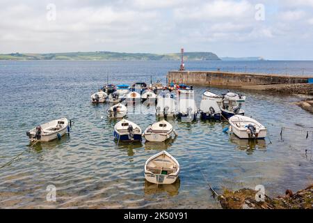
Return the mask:
[[[211, 52], [186, 52], [186, 61], [220, 60]], [[0, 60], [179, 61], [180, 54], [129, 54], [118, 52], [70, 52], [56, 54], [0, 54]]]

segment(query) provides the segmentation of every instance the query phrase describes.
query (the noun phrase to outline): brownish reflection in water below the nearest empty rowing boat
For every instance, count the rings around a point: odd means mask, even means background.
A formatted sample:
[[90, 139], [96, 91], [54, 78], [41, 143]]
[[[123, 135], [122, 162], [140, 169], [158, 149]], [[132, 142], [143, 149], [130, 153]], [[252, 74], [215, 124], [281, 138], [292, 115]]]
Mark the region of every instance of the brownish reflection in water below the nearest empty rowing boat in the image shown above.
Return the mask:
[[145, 180], [145, 187], [144, 192], [145, 194], [161, 194], [163, 192], [166, 192], [170, 196], [175, 196], [179, 193], [179, 186], [180, 186], [180, 180], [179, 177], [175, 181], [175, 183], [172, 184], [164, 184], [164, 185], [157, 185], [154, 183], [150, 183], [147, 180]]

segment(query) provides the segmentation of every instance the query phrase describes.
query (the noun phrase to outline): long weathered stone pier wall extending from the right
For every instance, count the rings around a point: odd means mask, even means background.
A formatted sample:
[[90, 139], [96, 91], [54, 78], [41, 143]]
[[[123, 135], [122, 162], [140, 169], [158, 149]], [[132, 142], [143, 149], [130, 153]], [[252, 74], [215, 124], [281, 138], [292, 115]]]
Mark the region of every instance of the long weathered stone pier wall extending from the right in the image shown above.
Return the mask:
[[[243, 72], [221, 71], [169, 71], [168, 83], [174, 84], [204, 84], [210, 86], [264, 86], [279, 84], [308, 84], [313, 77], [297, 77], [286, 75], [267, 75]], [[313, 88], [313, 84], [312, 85]]]

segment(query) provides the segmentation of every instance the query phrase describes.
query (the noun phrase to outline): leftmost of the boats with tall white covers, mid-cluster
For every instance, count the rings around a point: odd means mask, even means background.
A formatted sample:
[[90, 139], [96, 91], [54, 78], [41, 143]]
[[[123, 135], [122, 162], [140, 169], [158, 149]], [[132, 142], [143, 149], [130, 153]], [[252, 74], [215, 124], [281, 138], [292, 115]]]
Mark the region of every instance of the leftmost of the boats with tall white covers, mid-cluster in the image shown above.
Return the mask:
[[156, 115], [157, 116], [175, 116], [177, 114], [176, 101], [171, 98], [170, 94], [168, 97], [158, 96]]

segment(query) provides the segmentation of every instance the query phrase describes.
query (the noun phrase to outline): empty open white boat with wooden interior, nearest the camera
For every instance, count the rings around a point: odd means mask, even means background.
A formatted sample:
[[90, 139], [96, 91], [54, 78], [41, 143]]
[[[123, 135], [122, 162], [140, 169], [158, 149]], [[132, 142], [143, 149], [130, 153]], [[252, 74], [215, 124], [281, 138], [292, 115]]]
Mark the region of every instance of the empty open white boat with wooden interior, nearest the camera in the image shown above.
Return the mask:
[[175, 183], [179, 171], [179, 163], [166, 151], [153, 155], [145, 162], [145, 179], [150, 183]]

